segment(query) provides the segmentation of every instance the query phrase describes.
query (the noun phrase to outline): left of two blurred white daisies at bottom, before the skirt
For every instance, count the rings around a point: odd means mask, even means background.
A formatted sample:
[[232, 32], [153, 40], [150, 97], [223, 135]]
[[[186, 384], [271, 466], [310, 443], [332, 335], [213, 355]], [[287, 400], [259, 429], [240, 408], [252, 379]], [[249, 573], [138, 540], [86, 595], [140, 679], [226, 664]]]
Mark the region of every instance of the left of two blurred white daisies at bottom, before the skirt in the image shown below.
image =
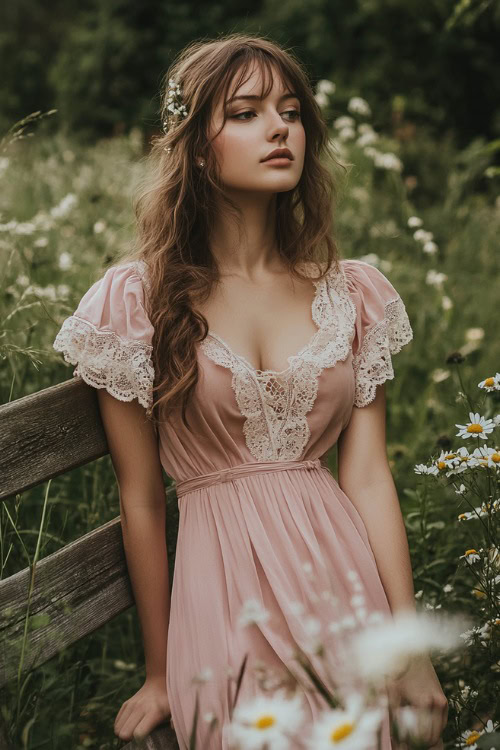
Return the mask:
[[284, 691], [279, 691], [271, 698], [259, 695], [237, 706], [223, 731], [230, 747], [260, 750], [267, 743], [273, 750], [287, 750], [288, 733], [299, 729], [304, 718], [301, 695], [296, 693], [289, 699]]

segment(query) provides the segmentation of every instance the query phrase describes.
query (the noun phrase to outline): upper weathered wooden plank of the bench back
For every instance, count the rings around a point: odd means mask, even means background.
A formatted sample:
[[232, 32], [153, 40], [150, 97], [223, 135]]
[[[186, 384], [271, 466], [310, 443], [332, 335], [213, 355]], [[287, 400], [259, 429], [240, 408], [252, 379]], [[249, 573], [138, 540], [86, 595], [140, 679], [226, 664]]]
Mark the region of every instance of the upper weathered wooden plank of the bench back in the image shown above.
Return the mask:
[[105, 456], [95, 388], [75, 377], [0, 406], [0, 500]]

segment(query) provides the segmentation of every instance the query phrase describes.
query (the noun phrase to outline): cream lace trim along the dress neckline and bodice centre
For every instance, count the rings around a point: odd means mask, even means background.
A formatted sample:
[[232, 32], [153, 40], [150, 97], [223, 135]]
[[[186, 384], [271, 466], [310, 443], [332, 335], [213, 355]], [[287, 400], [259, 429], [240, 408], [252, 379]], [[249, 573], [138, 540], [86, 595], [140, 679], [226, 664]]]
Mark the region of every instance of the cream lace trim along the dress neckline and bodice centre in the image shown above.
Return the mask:
[[256, 461], [298, 460], [310, 437], [306, 414], [327, 367], [351, 351], [356, 308], [342, 274], [313, 279], [312, 317], [318, 326], [308, 344], [288, 358], [286, 370], [257, 370], [214, 333], [203, 339], [203, 352], [232, 372], [232, 388], [241, 414], [248, 450]]

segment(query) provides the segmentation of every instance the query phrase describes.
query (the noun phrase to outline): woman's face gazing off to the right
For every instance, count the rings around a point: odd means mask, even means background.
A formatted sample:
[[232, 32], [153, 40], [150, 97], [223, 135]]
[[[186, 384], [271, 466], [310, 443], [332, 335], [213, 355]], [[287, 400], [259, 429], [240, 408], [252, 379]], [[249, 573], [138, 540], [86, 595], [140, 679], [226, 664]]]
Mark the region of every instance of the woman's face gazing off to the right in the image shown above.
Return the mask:
[[[259, 100], [261, 88], [258, 68], [236, 92], [230, 87], [226, 123], [212, 140], [222, 182], [231, 191], [285, 192], [297, 185], [302, 174], [306, 135], [300, 102], [282, 87], [276, 72], [268, 96]], [[211, 135], [217, 133], [222, 121], [223, 103], [219, 101]], [[275, 149], [285, 148], [291, 158], [264, 161]]]

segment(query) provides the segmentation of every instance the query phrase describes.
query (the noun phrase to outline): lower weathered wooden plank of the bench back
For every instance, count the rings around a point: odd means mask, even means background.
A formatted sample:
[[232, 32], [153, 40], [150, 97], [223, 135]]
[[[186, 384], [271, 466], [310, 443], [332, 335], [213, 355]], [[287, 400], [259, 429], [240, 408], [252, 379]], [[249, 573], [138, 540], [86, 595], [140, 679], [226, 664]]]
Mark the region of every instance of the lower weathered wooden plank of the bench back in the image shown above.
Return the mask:
[[[177, 535], [175, 488], [167, 495], [170, 587]], [[30, 569], [0, 581], [0, 687], [17, 674]], [[43, 664], [134, 604], [120, 517], [54, 552], [36, 565], [23, 671]], [[32, 619], [33, 618], [33, 619]]]

